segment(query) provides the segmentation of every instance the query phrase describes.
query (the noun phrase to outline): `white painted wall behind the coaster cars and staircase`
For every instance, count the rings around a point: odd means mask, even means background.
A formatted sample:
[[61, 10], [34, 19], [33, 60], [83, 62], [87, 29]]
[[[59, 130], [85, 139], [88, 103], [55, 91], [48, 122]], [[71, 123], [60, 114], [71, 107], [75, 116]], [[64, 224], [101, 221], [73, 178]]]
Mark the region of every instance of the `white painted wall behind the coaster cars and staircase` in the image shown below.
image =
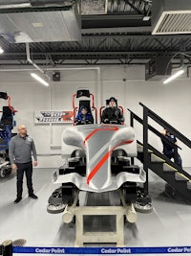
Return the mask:
[[[50, 76], [52, 72], [49, 72]], [[34, 125], [34, 110], [72, 110], [72, 95], [78, 87], [88, 87], [95, 94], [96, 106], [105, 105], [111, 96], [118, 99], [118, 104], [130, 108], [142, 117], [139, 102], [155, 111], [173, 127], [191, 139], [191, 84], [189, 78], [163, 84], [162, 81], [145, 81], [144, 65], [101, 66], [100, 69], [71, 68], [61, 70], [61, 81], [51, 82], [45, 87], [33, 81], [29, 71], [0, 72], [0, 91], [7, 91], [12, 105], [18, 110], [15, 119], [18, 124], [25, 124], [35, 140], [39, 156], [39, 167], [57, 168], [62, 164], [59, 154], [61, 132], [68, 125]], [[100, 80], [99, 80], [100, 79]], [[1, 105], [7, 103], [0, 101]], [[129, 124], [129, 112], [125, 110], [126, 124]], [[156, 128], [160, 127], [151, 122]], [[142, 138], [140, 125], [136, 124], [138, 139]], [[14, 129], [16, 131], [16, 129]], [[51, 138], [53, 136], [53, 141]], [[159, 138], [149, 134], [149, 141], [159, 150]], [[53, 146], [51, 148], [51, 143]], [[183, 147], [180, 151], [183, 166], [190, 167], [190, 151]]]

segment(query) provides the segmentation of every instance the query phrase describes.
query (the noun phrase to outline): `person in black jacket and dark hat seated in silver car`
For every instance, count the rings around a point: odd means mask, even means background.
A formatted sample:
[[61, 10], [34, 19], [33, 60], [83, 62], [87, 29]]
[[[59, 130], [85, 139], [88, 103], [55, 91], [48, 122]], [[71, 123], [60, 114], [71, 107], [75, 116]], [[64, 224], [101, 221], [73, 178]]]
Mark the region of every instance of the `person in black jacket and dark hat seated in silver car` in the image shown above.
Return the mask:
[[103, 110], [101, 115], [101, 123], [104, 124], [123, 124], [124, 117], [121, 110], [117, 107], [117, 100], [111, 97], [108, 101], [109, 106]]

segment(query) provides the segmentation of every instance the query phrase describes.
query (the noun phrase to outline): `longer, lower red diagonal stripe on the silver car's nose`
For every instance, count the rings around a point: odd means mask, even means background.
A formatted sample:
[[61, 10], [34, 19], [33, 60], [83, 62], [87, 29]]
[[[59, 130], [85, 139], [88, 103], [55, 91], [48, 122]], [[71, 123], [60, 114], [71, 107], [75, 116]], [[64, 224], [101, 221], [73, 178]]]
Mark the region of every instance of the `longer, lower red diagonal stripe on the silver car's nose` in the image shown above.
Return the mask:
[[109, 158], [109, 156], [112, 154], [112, 152], [120, 145], [123, 144], [130, 144], [132, 143], [133, 140], [127, 140], [127, 141], [123, 141], [121, 143], [118, 143], [114, 148], [112, 148], [110, 151], [108, 151], [102, 158], [101, 160], [96, 164], [96, 167], [91, 171], [90, 175], [88, 175], [87, 177], [87, 184], [89, 185], [91, 179], [94, 177], [94, 175], [96, 175], [96, 173], [98, 172], [98, 170], [101, 168], [101, 166], [107, 161], [107, 159]]

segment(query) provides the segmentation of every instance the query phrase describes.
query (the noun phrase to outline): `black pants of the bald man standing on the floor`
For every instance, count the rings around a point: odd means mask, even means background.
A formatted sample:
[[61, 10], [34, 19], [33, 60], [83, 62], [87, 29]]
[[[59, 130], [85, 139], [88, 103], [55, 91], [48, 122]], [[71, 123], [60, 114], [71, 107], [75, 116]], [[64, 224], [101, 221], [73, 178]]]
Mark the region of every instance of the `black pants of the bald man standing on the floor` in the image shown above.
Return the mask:
[[16, 180], [16, 187], [17, 187], [17, 198], [22, 197], [23, 193], [23, 175], [25, 173], [27, 178], [27, 187], [29, 195], [33, 194], [32, 189], [32, 162], [29, 163], [16, 163], [17, 166], [17, 180]]

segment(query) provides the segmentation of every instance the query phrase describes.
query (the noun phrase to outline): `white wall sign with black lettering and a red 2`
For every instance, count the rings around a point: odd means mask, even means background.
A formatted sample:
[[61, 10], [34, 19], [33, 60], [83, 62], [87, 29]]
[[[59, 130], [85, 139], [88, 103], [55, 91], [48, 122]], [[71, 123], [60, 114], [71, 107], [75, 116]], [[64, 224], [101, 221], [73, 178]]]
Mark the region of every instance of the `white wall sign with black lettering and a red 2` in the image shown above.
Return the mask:
[[74, 112], [70, 110], [44, 110], [34, 112], [35, 124], [73, 123]]

